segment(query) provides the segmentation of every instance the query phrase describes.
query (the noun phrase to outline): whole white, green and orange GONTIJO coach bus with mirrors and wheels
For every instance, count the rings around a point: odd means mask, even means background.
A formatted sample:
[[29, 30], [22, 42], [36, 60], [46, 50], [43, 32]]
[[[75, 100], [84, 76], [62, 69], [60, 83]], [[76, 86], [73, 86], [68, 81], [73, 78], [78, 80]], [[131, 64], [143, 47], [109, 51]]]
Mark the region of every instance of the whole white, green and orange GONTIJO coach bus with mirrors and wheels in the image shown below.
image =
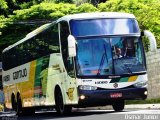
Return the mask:
[[[156, 49], [154, 36], [144, 32]], [[5, 105], [17, 114], [55, 107], [112, 105], [146, 99], [142, 34], [134, 15], [104, 12], [64, 16], [3, 51]]]

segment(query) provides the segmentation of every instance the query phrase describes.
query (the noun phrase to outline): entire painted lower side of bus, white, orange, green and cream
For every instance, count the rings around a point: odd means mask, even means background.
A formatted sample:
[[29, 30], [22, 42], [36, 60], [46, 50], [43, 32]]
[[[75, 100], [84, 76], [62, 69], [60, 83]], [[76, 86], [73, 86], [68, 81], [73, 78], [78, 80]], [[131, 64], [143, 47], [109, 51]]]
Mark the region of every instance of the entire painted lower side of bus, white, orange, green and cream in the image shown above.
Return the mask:
[[[22, 73], [17, 72], [21, 70]], [[23, 70], [26, 70], [26, 76]], [[13, 94], [17, 98], [17, 93], [20, 94], [23, 107], [55, 105], [56, 85], [61, 88], [64, 104], [77, 104], [76, 81], [67, 75], [59, 53], [42, 57], [4, 73], [3, 78], [10, 76], [10, 80], [4, 82], [7, 108], [12, 108], [11, 97]]]

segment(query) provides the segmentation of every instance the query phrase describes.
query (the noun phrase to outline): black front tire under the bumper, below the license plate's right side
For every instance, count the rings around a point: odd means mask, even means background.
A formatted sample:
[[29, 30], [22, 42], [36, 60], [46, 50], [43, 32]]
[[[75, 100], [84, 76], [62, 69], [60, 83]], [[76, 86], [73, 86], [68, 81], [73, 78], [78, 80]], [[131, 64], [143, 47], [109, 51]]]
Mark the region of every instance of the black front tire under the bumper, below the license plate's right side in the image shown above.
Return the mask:
[[113, 109], [118, 112], [118, 111], [122, 111], [124, 109], [125, 106], [125, 102], [124, 100], [119, 100], [119, 101], [115, 101], [112, 105]]

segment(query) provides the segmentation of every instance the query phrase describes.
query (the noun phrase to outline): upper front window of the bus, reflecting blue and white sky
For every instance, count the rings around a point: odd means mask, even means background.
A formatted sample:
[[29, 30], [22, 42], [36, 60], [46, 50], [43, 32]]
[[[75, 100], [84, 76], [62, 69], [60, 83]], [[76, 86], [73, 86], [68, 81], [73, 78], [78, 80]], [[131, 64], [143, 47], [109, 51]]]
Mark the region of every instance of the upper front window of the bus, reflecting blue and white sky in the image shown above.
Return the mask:
[[70, 26], [75, 37], [139, 33], [137, 21], [129, 18], [71, 20]]

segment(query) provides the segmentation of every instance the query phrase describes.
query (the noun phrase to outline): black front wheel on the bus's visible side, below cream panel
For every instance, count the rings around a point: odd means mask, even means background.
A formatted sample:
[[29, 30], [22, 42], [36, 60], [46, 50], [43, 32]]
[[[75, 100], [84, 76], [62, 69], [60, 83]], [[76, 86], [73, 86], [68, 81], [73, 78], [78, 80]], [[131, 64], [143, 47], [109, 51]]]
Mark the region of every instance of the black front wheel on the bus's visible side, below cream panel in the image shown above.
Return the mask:
[[55, 91], [56, 111], [60, 115], [71, 113], [72, 107], [64, 105], [62, 92], [58, 89]]

